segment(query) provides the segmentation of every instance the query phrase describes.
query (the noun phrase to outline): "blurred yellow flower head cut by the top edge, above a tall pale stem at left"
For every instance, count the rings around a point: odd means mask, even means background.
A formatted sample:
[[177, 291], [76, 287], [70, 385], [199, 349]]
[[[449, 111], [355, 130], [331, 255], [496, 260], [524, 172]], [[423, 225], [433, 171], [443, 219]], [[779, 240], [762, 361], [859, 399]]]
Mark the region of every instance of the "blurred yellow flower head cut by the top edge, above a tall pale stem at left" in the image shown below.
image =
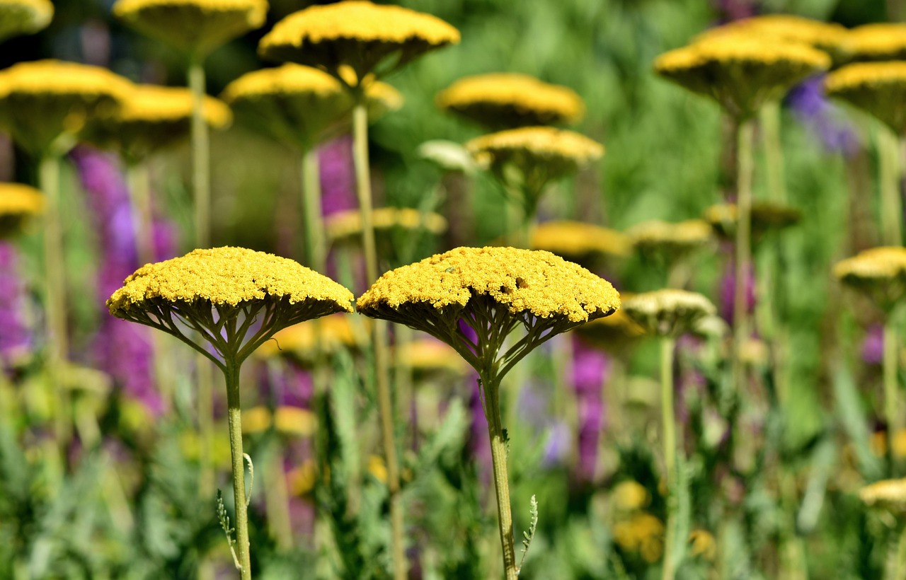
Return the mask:
[[117, 0], [113, 14], [140, 33], [199, 57], [265, 24], [266, 0]]

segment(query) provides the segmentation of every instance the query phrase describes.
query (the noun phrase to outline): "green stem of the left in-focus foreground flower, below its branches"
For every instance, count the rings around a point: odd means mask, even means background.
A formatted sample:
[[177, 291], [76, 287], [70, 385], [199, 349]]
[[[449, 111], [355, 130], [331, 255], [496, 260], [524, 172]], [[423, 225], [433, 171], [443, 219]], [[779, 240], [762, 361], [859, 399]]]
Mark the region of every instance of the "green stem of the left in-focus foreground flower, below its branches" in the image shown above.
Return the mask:
[[[209, 367], [209, 365], [207, 365]], [[242, 451], [242, 407], [239, 404], [239, 364], [226, 360], [226, 406], [229, 422], [229, 446], [233, 459], [233, 496], [236, 508], [236, 555], [242, 566], [242, 580], [251, 580], [252, 565], [248, 545], [248, 513], [246, 511], [246, 461]]]

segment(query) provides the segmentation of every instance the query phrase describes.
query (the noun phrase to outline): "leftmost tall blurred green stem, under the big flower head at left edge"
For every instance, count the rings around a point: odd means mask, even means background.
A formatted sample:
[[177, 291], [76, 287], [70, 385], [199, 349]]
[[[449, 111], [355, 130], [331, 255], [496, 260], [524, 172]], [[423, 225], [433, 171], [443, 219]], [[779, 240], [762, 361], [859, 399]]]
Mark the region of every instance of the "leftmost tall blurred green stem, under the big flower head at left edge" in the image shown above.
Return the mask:
[[60, 157], [45, 153], [39, 166], [41, 190], [46, 199], [44, 215], [44, 280], [47, 320], [47, 370], [56, 398], [54, 430], [58, 444], [72, 437], [69, 395], [62, 387], [64, 367], [69, 356], [66, 328], [66, 277], [63, 267], [63, 226], [60, 220]]

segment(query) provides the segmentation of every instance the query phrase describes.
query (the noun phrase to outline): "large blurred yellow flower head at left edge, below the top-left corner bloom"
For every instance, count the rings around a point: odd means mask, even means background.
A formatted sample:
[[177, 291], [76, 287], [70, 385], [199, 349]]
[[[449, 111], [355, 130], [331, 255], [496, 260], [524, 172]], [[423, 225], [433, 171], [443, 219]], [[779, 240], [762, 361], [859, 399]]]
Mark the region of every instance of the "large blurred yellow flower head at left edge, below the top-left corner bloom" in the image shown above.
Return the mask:
[[76, 62], [20, 62], [0, 71], [0, 126], [33, 154], [93, 117], [110, 116], [132, 83]]

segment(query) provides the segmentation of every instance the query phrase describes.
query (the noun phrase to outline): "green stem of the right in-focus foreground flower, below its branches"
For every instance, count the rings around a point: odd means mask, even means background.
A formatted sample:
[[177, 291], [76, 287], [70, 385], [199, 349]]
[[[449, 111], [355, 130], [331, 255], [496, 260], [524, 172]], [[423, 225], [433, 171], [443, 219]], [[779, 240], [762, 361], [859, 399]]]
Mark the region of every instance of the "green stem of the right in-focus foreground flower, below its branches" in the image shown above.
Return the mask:
[[485, 395], [487, 433], [491, 438], [491, 461], [494, 464], [494, 489], [497, 496], [497, 516], [500, 545], [504, 555], [506, 580], [516, 580], [516, 542], [513, 538], [513, 514], [510, 511], [509, 480], [506, 476], [506, 439], [500, 423], [500, 379], [482, 379]]

